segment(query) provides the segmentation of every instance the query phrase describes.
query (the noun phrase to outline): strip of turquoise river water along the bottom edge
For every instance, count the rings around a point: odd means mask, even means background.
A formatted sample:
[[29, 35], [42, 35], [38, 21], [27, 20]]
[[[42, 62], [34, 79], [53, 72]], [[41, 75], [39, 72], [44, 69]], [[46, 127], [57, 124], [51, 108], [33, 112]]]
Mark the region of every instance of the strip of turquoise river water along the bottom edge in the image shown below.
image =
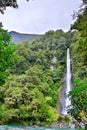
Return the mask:
[[58, 127], [32, 127], [32, 126], [18, 126], [18, 125], [0, 125], [0, 130], [82, 130], [72, 128], [58, 128]]

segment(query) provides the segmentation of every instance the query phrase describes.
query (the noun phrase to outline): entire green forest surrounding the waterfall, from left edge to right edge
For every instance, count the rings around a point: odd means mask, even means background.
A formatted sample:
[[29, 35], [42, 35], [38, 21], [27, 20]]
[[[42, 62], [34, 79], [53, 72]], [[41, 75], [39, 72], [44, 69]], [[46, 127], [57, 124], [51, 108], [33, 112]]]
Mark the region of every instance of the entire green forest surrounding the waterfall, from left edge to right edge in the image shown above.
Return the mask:
[[[87, 7], [68, 32], [50, 30], [19, 45], [0, 29], [0, 124], [52, 124], [70, 119], [59, 113], [60, 92], [70, 48], [73, 89], [68, 113], [87, 127]], [[15, 122], [14, 122], [15, 121]]]

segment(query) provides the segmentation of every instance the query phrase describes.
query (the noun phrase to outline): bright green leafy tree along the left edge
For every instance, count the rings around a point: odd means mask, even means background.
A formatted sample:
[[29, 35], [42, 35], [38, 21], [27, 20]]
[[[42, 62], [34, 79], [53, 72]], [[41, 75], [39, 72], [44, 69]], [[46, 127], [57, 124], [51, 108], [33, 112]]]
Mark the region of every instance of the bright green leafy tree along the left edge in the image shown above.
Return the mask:
[[14, 61], [14, 50], [16, 45], [11, 43], [11, 37], [7, 31], [0, 30], [0, 85], [6, 78], [6, 69]]

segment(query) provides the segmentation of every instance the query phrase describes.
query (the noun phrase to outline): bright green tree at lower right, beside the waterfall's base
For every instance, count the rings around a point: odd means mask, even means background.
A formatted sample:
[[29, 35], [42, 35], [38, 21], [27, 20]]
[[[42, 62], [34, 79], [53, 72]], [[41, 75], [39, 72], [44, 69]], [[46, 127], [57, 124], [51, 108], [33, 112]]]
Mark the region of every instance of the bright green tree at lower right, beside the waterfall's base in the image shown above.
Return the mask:
[[87, 81], [75, 80], [70, 92], [72, 107], [69, 113], [78, 122], [87, 125]]

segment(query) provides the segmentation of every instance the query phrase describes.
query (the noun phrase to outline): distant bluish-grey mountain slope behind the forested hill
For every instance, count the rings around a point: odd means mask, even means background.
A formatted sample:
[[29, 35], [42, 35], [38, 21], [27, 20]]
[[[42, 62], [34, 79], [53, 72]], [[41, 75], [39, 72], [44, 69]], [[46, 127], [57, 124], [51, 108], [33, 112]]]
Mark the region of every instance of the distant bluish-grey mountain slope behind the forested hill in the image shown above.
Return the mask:
[[13, 42], [16, 44], [22, 43], [27, 40], [32, 40], [32, 39], [40, 36], [40, 35], [36, 35], [36, 34], [22, 34], [22, 33], [18, 33], [15, 31], [11, 31], [11, 32], [9, 32], [9, 34], [11, 35]]

